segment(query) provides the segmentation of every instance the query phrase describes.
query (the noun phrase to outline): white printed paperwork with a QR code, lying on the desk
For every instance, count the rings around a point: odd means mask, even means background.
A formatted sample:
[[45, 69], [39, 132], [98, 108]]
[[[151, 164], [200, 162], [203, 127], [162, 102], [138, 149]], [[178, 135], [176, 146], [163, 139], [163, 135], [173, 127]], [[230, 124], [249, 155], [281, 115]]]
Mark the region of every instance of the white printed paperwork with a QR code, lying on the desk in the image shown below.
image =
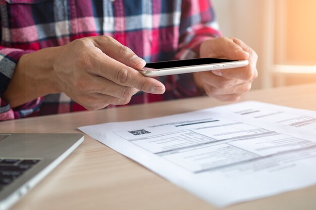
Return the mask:
[[316, 184], [313, 111], [247, 101], [79, 129], [217, 207]]

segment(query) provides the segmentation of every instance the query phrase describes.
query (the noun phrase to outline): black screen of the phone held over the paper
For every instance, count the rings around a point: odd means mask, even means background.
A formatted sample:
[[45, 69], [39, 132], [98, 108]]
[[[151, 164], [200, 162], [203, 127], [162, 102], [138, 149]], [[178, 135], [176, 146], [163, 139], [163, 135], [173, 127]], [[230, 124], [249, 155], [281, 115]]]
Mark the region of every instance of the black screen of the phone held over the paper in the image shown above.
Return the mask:
[[228, 59], [220, 59], [220, 58], [195, 58], [195, 59], [187, 59], [187, 60], [171, 60], [171, 61], [163, 61], [163, 62], [152, 62], [147, 63], [145, 67], [161, 69], [161, 68], [176, 68], [190, 65], [203, 65], [203, 64], [212, 64], [212, 63], [222, 63], [222, 62], [231, 62], [237, 60], [228, 60]]

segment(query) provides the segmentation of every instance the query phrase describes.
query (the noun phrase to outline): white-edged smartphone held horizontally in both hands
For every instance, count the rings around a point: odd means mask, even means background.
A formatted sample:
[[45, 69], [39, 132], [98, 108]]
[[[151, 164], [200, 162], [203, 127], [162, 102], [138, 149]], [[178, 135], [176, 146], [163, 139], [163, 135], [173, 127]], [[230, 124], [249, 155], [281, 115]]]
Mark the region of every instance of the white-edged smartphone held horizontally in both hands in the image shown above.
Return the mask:
[[151, 62], [146, 63], [145, 67], [137, 70], [146, 77], [158, 77], [226, 68], [237, 68], [246, 66], [248, 63], [248, 60], [228, 60], [205, 57], [186, 60]]

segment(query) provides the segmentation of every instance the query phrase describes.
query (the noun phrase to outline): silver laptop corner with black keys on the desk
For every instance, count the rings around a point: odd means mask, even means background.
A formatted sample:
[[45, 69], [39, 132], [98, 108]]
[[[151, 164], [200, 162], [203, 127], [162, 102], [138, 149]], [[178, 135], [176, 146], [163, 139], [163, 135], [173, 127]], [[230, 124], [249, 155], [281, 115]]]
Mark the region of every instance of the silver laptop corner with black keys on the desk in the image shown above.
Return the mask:
[[83, 139], [79, 133], [0, 133], [0, 210], [9, 209]]

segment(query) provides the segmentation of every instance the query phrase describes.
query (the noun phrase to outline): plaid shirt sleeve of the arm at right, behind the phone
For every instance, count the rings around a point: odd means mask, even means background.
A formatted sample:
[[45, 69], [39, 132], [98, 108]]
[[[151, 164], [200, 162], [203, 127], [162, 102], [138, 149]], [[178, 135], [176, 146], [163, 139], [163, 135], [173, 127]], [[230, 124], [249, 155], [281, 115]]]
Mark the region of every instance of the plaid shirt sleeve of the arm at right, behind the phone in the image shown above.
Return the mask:
[[[183, 0], [179, 26], [179, 48], [175, 59], [199, 57], [202, 41], [220, 37], [222, 34], [217, 23], [212, 3], [209, 0]], [[168, 78], [167, 97], [185, 98], [199, 96], [193, 74], [173, 75]], [[171, 90], [171, 89], [170, 89]]]

